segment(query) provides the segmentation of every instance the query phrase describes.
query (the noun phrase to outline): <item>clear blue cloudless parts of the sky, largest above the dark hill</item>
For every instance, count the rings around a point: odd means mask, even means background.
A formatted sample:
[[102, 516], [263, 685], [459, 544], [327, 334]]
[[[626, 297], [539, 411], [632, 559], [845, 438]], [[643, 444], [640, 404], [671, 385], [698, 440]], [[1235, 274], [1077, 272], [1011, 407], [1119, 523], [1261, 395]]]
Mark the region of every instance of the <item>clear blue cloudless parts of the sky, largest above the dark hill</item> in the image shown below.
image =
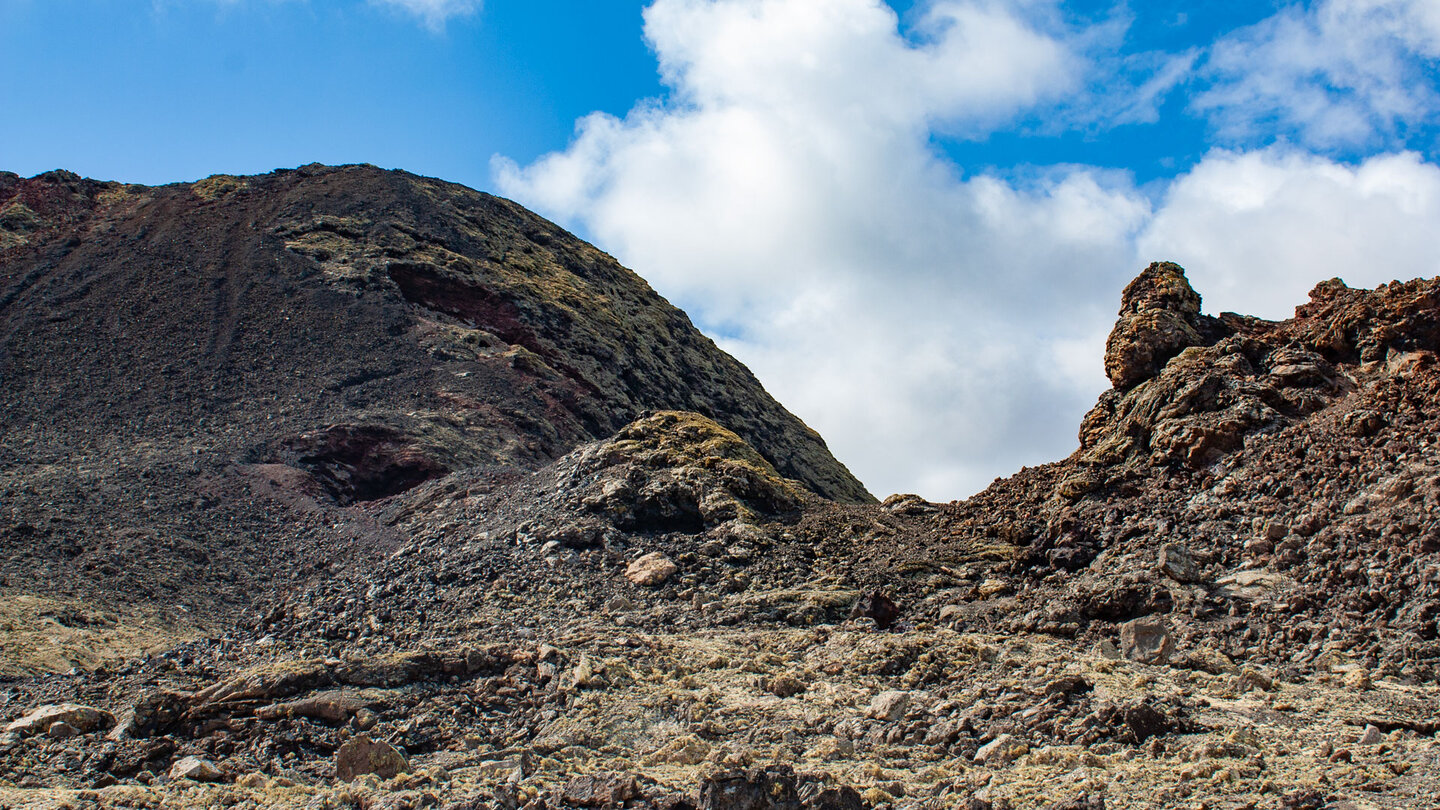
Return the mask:
[[[364, 0], [0, 0], [0, 69], [22, 76], [0, 85], [0, 160], [22, 174], [65, 166], [144, 183], [366, 161], [488, 187], [492, 154], [528, 163], [563, 148], [577, 118], [662, 94], [645, 6], [490, 0], [458, 4], [436, 27], [403, 4]], [[929, 4], [890, 6], [913, 36]], [[1060, 17], [1123, 25], [1117, 53], [1179, 53], [1280, 7], [1086, 0], [1060, 6]], [[935, 146], [966, 172], [1083, 163], [1148, 182], [1214, 146], [1185, 92], [1159, 112], [1061, 131], [1037, 117], [939, 133]], [[1434, 123], [1404, 143], [1433, 159]]]

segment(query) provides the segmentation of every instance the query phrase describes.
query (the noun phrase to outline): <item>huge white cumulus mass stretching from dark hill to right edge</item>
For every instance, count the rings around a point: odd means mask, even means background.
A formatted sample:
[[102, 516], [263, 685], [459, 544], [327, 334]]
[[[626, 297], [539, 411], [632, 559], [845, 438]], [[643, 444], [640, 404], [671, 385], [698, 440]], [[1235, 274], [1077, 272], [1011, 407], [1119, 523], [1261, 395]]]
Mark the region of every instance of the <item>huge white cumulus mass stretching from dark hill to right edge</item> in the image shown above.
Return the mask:
[[[1153, 199], [1092, 167], [945, 160], [936, 133], [1093, 91], [1093, 37], [1053, 12], [940, 0], [901, 35], [878, 0], [657, 0], [670, 94], [580, 120], [528, 166], [497, 157], [495, 177], [688, 310], [878, 494], [962, 497], [1070, 453], [1148, 261], [1191, 262], [1207, 301], [1241, 310], [1336, 274], [1323, 245], [1277, 246], [1308, 228], [1378, 228], [1395, 245], [1377, 257], [1424, 265], [1437, 170], [1416, 156], [1215, 153]], [[1182, 68], [1155, 65], [1161, 92]]]

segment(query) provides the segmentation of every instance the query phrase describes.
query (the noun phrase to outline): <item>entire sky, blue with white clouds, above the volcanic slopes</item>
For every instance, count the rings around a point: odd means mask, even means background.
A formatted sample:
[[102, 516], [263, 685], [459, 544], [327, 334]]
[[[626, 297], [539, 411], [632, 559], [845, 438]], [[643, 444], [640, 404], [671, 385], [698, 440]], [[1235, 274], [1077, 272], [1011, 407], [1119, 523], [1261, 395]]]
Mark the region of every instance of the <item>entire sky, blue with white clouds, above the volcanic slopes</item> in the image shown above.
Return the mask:
[[0, 0], [0, 169], [364, 161], [687, 308], [877, 493], [1066, 455], [1119, 290], [1437, 275], [1434, 0]]

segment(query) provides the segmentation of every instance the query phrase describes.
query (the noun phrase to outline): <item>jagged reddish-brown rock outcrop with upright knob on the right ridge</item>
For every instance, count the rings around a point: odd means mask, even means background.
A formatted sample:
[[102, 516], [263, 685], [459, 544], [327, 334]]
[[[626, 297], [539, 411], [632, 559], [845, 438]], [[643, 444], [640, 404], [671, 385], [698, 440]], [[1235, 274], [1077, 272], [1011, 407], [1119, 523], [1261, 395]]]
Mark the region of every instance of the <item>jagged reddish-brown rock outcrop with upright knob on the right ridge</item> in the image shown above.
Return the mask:
[[1338, 281], [1316, 287], [1292, 321], [1211, 319], [1200, 314], [1200, 295], [1179, 267], [1151, 265], [1125, 290], [1106, 349], [1115, 388], [1080, 427], [1080, 460], [1201, 470], [1246, 437], [1352, 392], [1356, 379], [1345, 363], [1434, 344], [1423, 326], [1430, 316], [1420, 314], [1433, 288], [1346, 293], [1354, 291]]

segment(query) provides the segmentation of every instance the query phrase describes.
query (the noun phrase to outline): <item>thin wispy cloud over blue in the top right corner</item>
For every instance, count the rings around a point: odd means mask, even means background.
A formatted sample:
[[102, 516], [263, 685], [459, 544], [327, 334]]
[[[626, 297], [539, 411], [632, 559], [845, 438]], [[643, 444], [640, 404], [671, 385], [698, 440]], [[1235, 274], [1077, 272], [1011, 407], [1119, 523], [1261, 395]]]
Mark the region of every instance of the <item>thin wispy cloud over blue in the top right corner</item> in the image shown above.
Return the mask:
[[1318, 148], [1384, 144], [1440, 111], [1426, 75], [1436, 59], [1434, 0], [1293, 6], [1211, 48], [1215, 84], [1192, 108], [1240, 143], [1279, 131]]

